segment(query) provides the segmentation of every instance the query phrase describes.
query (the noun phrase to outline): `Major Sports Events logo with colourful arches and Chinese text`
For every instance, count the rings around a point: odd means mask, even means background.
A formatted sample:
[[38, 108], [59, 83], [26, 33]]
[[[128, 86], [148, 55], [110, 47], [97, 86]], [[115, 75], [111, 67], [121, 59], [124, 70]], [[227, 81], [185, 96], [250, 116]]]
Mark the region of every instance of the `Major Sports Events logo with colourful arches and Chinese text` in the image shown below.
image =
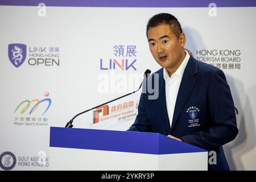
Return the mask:
[[[49, 93], [46, 92], [44, 96], [48, 97]], [[51, 106], [52, 100], [51, 98], [43, 98], [39, 100], [39, 98], [35, 98], [33, 100], [24, 100], [16, 106], [14, 113], [19, 113], [21, 115], [26, 114], [26, 117], [15, 117], [14, 124], [15, 125], [46, 125], [48, 119], [42, 118], [38, 116], [43, 116], [48, 111]], [[39, 110], [39, 111], [37, 111]], [[33, 115], [32, 115], [33, 114]], [[32, 115], [30, 117], [30, 115]], [[36, 123], [37, 122], [37, 123]]]

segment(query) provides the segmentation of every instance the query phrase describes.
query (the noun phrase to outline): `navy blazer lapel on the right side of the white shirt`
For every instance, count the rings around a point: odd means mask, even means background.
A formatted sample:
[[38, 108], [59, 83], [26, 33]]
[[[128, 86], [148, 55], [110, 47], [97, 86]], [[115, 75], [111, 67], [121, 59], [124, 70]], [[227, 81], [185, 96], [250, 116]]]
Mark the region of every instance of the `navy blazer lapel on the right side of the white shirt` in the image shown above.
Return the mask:
[[188, 64], [184, 70], [183, 77], [180, 82], [179, 92], [177, 94], [175, 109], [174, 109], [174, 117], [172, 119], [171, 131], [174, 129], [177, 119], [183, 109], [185, 102], [193, 86], [197, 81], [197, 73], [198, 72], [198, 62], [192, 56], [190, 56], [188, 60]]

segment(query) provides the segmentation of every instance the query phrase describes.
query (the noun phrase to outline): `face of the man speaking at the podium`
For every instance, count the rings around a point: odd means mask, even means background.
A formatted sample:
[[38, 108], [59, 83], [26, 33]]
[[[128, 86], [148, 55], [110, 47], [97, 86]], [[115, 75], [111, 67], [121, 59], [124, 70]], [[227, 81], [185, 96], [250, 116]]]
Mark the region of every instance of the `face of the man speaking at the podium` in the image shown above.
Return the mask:
[[170, 26], [163, 23], [150, 27], [147, 36], [150, 52], [156, 62], [167, 70], [178, 68], [184, 59], [185, 34], [177, 38]]

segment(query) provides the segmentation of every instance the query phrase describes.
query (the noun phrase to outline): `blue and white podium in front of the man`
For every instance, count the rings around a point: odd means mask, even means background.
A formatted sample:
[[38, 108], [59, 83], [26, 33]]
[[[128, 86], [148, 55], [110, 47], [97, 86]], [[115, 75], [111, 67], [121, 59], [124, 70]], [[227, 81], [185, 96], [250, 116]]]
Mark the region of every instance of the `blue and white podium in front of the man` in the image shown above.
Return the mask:
[[50, 170], [207, 170], [208, 152], [158, 133], [50, 128]]

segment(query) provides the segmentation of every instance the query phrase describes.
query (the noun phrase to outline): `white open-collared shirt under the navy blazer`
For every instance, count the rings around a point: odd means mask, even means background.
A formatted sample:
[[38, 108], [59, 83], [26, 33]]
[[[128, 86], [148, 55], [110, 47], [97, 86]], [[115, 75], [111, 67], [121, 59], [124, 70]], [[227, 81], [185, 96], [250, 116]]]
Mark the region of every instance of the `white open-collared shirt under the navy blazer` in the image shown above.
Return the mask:
[[185, 67], [188, 64], [189, 53], [186, 51], [186, 56], [179, 68], [172, 74], [170, 77], [167, 70], [163, 69], [163, 77], [166, 81], [166, 106], [167, 113], [170, 121], [170, 126], [172, 127], [172, 118], [174, 117], [174, 108], [177, 99], [177, 93], [179, 92], [180, 82], [185, 70]]

